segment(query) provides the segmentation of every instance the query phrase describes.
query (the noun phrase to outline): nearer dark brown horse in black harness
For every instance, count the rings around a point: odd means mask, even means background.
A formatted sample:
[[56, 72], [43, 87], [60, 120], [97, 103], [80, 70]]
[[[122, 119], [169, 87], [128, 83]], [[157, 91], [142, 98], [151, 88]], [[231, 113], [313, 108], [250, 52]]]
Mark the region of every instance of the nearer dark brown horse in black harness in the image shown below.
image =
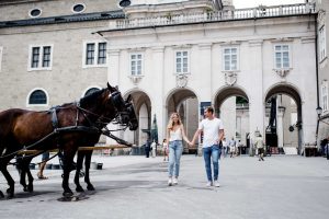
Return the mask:
[[[64, 196], [71, 196], [68, 180], [73, 157], [81, 146], [94, 146], [102, 128], [114, 118], [135, 130], [136, 122], [126, 116], [129, 108], [121, 93], [107, 83], [107, 88], [82, 97], [78, 103], [64, 104], [47, 112], [12, 108], [0, 113], [0, 171], [9, 188], [8, 197], [14, 195], [14, 181], [7, 170], [9, 161], [24, 147], [35, 150], [59, 149], [64, 154]], [[31, 173], [22, 160], [22, 169]], [[24, 173], [25, 174], [25, 173]], [[32, 177], [32, 175], [31, 175]], [[32, 177], [33, 180], [33, 177]], [[33, 189], [33, 186], [30, 189]], [[1, 194], [0, 194], [1, 195]]]

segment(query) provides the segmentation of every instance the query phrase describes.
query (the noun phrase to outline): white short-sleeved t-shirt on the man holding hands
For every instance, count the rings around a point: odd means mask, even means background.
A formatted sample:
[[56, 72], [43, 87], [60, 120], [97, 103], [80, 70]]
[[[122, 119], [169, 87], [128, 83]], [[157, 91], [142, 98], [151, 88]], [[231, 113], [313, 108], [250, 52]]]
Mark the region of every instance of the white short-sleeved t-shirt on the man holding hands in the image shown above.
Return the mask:
[[198, 129], [203, 130], [203, 148], [207, 148], [218, 145], [219, 129], [224, 129], [224, 126], [219, 118], [205, 118], [198, 124]]

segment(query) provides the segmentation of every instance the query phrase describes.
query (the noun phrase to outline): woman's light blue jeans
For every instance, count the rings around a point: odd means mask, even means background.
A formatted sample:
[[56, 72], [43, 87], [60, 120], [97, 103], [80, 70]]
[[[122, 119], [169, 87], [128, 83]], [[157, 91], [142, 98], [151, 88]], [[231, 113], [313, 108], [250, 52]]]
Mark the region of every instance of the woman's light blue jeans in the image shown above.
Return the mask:
[[169, 142], [169, 177], [178, 177], [180, 174], [181, 155], [183, 152], [183, 141], [174, 140]]

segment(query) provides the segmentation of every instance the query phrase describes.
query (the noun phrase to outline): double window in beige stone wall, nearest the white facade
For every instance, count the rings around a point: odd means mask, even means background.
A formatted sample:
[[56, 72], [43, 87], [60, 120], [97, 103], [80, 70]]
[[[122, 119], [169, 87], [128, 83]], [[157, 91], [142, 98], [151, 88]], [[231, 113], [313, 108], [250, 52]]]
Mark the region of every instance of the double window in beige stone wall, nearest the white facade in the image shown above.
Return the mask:
[[84, 44], [83, 66], [99, 67], [106, 65], [106, 43], [91, 42]]

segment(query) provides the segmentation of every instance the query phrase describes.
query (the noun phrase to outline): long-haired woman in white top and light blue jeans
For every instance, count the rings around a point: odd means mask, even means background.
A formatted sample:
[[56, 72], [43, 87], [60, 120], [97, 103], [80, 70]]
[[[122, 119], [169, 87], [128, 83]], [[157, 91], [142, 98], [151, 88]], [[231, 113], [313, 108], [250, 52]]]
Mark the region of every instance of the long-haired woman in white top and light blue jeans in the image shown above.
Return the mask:
[[178, 113], [172, 113], [167, 126], [167, 138], [169, 141], [169, 164], [168, 185], [177, 185], [180, 173], [180, 160], [183, 152], [183, 139], [191, 145], [188, 139], [184, 126]]

